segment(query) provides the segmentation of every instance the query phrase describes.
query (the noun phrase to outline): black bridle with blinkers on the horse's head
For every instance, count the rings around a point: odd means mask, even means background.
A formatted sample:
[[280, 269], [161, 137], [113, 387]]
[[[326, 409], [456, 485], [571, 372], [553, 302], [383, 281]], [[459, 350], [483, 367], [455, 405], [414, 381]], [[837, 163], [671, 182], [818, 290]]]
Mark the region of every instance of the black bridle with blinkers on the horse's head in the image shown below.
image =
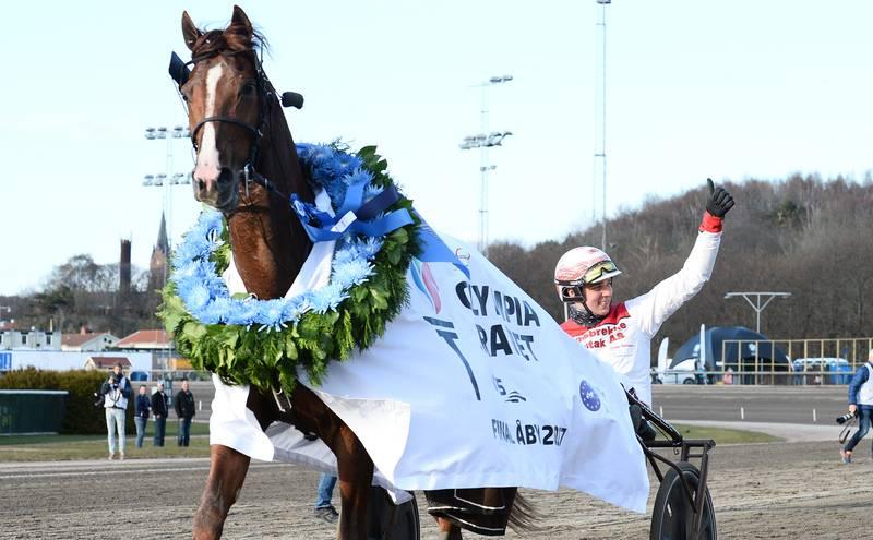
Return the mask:
[[[216, 117], [206, 117], [199, 121], [194, 128], [191, 130], [191, 145], [194, 147], [195, 152], [199, 152], [198, 148], [198, 132], [200, 131], [203, 125], [208, 122], [226, 122], [231, 123], [234, 125], [238, 125], [243, 128], [248, 132], [252, 134], [251, 144], [249, 145], [249, 157], [246, 160], [246, 164], [242, 166], [242, 176], [246, 185], [246, 196], [249, 195], [249, 182], [254, 182], [268, 192], [274, 193], [283, 199], [283, 201], [288, 201], [288, 195], [283, 193], [282, 191], [276, 188], [276, 184], [270, 181], [266, 177], [261, 175], [255, 165], [258, 163], [258, 148], [261, 144], [261, 139], [263, 139], [263, 134], [266, 131], [266, 123], [267, 123], [267, 108], [272, 103], [272, 98], [274, 97], [273, 85], [270, 83], [270, 80], [264, 73], [263, 64], [261, 62], [261, 58], [253, 49], [240, 49], [234, 51], [222, 51], [222, 52], [207, 52], [205, 55], [194, 56], [188, 62], [183, 62], [181, 58], [176, 52], [172, 52], [170, 56], [170, 67], [169, 73], [174, 81], [177, 83], [177, 91], [181, 94], [182, 85], [188, 81], [189, 75], [191, 74], [191, 70], [188, 68], [189, 65], [194, 65], [198, 62], [203, 60], [207, 60], [210, 58], [214, 58], [215, 56], [222, 55], [225, 57], [238, 55], [241, 52], [252, 52], [254, 57], [254, 71], [255, 71], [255, 87], [258, 92], [258, 125], [253, 125], [249, 122], [243, 122], [238, 118], [234, 117], [225, 117], [225, 116], [216, 116]], [[300, 94], [296, 94], [294, 92], [286, 92], [282, 96], [282, 105], [285, 107], [297, 107], [298, 109], [303, 106], [303, 96]]]

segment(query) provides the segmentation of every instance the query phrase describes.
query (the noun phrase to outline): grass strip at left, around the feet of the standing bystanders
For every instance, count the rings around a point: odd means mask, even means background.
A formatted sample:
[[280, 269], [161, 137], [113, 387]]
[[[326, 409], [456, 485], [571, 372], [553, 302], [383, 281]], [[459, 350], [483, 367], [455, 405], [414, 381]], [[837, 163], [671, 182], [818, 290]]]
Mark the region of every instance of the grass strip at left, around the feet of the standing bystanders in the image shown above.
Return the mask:
[[[154, 423], [146, 425], [143, 447], [137, 448], [136, 437], [128, 435], [127, 459], [154, 457], [207, 457], [210, 455], [210, 425], [191, 424], [191, 446], [176, 446], [178, 422], [167, 422], [163, 447], [152, 446]], [[12, 435], [0, 436], [0, 461], [55, 461], [71, 459], [104, 459], [109, 453], [106, 435]]]

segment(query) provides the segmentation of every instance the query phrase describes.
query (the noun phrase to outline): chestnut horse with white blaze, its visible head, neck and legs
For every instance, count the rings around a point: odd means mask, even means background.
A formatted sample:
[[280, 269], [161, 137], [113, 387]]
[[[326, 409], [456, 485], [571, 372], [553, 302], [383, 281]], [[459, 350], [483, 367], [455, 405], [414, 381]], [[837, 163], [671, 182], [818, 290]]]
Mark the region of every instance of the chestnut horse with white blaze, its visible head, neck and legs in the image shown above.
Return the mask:
[[[195, 148], [194, 197], [220, 211], [228, 224], [234, 261], [249, 292], [260, 299], [283, 297], [300, 272], [312, 242], [292, 214], [287, 195], [314, 200], [298, 161], [279, 97], [258, 57], [264, 38], [246, 13], [234, 8], [229, 25], [202, 31], [182, 13], [182, 36], [192, 64], [179, 91], [188, 106]], [[254, 181], [250, 181], [254, 180]], [[320, 437], [336, 456], [342, 501], [337, 537], [363, 540], [373, 477], [373, 460], [356, 434], [309, 388], [297, 385], [284, 396], [250, 387], [247, 407], [261, 429], [280, 421]], [[237, 501], [250, 458], [223, 445], [210, 447], [210, 473], [193, 516], [196, 539], [219, 538]], [[450, 493], [451, 492], [451, 493]], [[530, 512], [516, 488], [464, 490], [483, 506], [504, 512], [493, 521], [513, 528], [529, 524]], [[429, 492], [436, 501], [452, 500], [454, 490]], [[515, 505], [513, 503], [516, 503]], [[515, 506], [510, 513], [509, 508]], [[491, 512], [493, 514], [494, 512]], [[461, 538], [468, 528], [451, 509], [432, 511], [441, 537]], [[474, 529], [476, 530], [476, 529]]]

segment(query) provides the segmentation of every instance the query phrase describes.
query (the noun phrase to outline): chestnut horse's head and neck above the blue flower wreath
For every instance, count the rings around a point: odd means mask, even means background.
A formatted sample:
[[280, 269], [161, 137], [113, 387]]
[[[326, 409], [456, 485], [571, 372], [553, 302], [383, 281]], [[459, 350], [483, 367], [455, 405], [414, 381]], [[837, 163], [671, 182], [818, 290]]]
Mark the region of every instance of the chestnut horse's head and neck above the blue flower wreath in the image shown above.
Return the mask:
[[302, 96], [286, 93], [279, 103], [259, 58], [265, 41], [240, 8], [226, 28], [206, 32], [184, 12], [182, 36], [191, 61], [174, 53], [170, 74], [188, 105], [194, 199], [227, 217], [249, 292], [280, 297], [312, 247], [288, 202], [291, 193], [314, 196], [282, 110], [299, 108]]

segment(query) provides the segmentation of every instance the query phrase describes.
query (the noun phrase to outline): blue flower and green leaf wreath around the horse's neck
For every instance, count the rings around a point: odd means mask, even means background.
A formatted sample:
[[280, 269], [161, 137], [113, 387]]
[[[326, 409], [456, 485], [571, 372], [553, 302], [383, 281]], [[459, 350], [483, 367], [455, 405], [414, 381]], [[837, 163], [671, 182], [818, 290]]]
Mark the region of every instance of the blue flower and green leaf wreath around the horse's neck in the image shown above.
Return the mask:
[[[349, 154], [337, 145], [300, 144], [297, 152], [313, 190], [325, 190], [335, 211], [352, 184], [366, 182], [364, 201], [394, 185], [375, 146]], [[302, 369], [318, 384], [331, 359], [372, 345], [408, 299], [406, 269], [421, 249], [420, 220], [403, 195], [384, 213], [403, 209], [412, 223], [384, 236], [337, 239], [327, 286], [274, 300], [229, 293], [220, 277], [229, 233], [220, 213], [204, 211], [172, 255], [158, 316], [179, 352], [225, 383], [290, 393]]]

